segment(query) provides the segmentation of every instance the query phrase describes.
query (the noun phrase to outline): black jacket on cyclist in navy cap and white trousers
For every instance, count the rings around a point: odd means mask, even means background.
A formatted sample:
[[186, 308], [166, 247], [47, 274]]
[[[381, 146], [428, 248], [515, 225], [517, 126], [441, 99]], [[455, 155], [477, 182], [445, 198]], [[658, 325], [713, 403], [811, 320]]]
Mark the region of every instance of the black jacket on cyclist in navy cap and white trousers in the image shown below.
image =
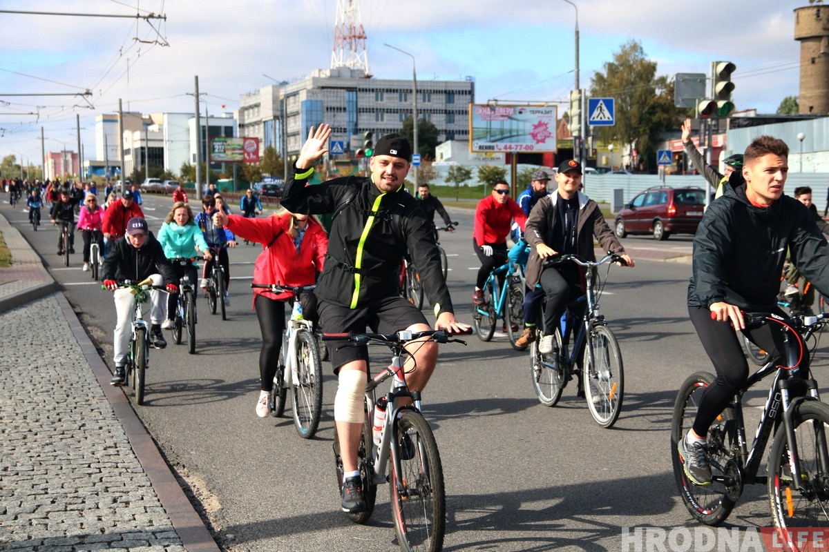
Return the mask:
[[165, 284], [178, 284], [176, 273], [164, 255], [161, 243], [148, 233], [140, 248], [127, 243], [127, 237], [109, 242], [109, 252], [101, 267], [101, 280], [142, 281], [151, 274], [160, 274]]

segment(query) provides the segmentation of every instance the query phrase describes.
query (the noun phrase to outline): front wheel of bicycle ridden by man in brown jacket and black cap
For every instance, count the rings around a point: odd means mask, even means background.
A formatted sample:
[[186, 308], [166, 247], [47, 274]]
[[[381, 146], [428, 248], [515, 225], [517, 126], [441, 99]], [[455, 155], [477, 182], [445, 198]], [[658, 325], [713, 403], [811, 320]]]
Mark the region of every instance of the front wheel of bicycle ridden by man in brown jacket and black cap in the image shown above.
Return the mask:
[[612, 427], [622, 410], [624, 369], [618, 341], [607, 326], [594, 327], [590, 347], [584, 348], [583, 366], [590, 415], [602, 427]]

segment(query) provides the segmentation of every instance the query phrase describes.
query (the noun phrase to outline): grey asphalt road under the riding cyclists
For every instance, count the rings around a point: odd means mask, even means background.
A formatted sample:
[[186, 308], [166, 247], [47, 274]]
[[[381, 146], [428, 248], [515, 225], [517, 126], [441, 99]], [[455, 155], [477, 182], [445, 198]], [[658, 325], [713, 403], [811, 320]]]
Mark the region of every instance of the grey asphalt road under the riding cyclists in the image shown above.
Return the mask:
[[[169, 198], [145, 197], [153, 231], [169, 206]], [[457, 232], [442, 235], [449, 286], [460, 318], [471, 322], [478, 268], [473, 213], [453, 209], [451, 201], [447, 206], [461, 222]], [[11, 213], [8, 204], [2, 209]], [[111, 294], [80, 271], [80, 237], [66, 268], [56, 256], [54, 227], [33, 232], [25, 211], [9, 218], [64, 286], [111, 367], [114, 305]], [[513, 351], [504, 335], [490, 343], [470, 336], [466, 347], [442, 347], [424, 414], [444, 462], [444, 550], [634, 550], [623, 528], [696, 526], [671, 474], [669, 425], [676, 389], [691, 372], [710, 370], [710, 362], [687, 316], [690, 265], [654, 260], [689, 254], [691, 238], [623, 242], [637, 266], [613, 266], [600, 301], [625, 366], [623, 412], [612, 430], [594, 423], [574, 386], [558, 406], [541, 406], [527, 354]], [[260, 251], [242, 244], [230, 252], [227, 321], [208, 314], [206, 300], [199, 300], [196, 355], [172, 342], [151, 352], [146, 403], [136, 406], [138, 414], [199, 498], [225, 550], [397, 550], [385, 486], [367, 526], [351, 524], [340, 511], [330, 365], [316, 439], [299, 439], [288, 417], [255, 415], [259, 326], [249, 285]], [[825, 362], [817, 365], [820, 377]], [[764, 391], [751, 394], [751, 404], [762, 401]], [[748, 410], [750, 431], [754, 412]], [[729, 522], [768, 526], [764, 487], [746, 489]]]

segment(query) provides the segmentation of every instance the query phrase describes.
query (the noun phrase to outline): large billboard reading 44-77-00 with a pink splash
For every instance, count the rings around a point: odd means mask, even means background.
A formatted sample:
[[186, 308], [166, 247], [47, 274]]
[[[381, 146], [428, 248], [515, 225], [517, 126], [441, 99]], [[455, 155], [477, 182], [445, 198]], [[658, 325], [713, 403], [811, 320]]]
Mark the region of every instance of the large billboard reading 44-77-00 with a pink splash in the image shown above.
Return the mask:
[[558, 106], [469, 104], [469, 151], [554, 152]]

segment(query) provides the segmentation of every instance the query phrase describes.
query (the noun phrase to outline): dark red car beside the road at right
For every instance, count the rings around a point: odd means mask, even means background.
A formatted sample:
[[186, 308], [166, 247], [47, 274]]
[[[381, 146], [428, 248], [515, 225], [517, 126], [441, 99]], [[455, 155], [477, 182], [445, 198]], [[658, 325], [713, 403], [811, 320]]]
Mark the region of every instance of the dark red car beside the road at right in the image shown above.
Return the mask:
[[693, 234], [704, 209], [701, 188], [648, 188], [616, 214], [616, 236], [651, 233], [654, 239], [665, 240], [672, 233]]

